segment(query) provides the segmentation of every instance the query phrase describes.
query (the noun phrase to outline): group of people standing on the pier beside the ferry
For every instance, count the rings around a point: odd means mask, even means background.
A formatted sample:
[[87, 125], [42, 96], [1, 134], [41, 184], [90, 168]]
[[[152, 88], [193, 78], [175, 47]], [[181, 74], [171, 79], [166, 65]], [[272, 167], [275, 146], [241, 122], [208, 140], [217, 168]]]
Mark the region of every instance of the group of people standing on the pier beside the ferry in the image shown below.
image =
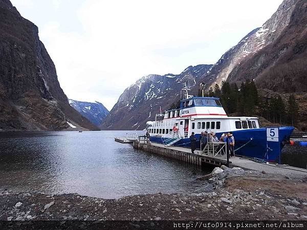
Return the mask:
[[[195, 133], [192, 132], [190, 135], [190, 142], [191, 142], [191, 151], [194, 153], [196, 149], [196, 142], [198, 140], [196, 139]], [[229, 154], [230, 157], [234, 156], [234, 136], [232, 132], [223, 133], [220, 139], [216, 136], [214, 132], [210, 132], [208, 135], [207, 131], [201, 132], [200, 136], [200, 148], [203, 150], [208, 142], [226, 142], [227, 144], [227, 154]]]

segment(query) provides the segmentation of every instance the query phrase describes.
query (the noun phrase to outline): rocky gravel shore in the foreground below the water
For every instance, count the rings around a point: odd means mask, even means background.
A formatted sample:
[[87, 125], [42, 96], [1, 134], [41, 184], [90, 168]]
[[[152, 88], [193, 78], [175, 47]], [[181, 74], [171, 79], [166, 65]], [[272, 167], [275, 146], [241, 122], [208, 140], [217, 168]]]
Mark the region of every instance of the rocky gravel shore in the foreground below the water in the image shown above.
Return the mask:
[[213, 192], [102, 199], [0, 191], [0, 220], [307, 220], [307, 177], [223, 169], [200, 178]]

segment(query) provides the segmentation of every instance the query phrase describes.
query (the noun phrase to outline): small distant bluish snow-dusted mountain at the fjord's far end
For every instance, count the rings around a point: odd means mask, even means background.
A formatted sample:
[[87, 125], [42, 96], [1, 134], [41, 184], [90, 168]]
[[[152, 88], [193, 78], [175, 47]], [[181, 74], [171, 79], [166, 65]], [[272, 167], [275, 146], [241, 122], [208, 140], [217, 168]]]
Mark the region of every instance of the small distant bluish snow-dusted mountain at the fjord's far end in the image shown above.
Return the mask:
[[76, 109], [83, 117], [94, 125], [101, 125], [103, 119], [109, 114], [109, 111], [100, 102], [83, 102], [69, 100], [69, 104]]

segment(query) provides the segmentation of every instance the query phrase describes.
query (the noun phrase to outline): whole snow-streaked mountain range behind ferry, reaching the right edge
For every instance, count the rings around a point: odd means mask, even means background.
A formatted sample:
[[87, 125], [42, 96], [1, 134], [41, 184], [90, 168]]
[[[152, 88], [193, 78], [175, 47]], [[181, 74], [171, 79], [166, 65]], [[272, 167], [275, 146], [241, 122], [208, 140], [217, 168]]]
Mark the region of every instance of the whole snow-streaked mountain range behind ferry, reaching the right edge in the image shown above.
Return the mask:
[[248, 33], [214, 65], [205, 65], [197, 76], [194, 75], [195, 66], [188, 68], [188, 75], [184, 71], [178, 76], [141, 78], [124, 91], [102, 128], [145, 128], [145, 122], [155, 119], [152, 115], [160, 111], [160, 106], [163, 111], [178, 100], [182, 83], [188, 80], [192, 83], [191, 94], [196, 95], [200, 82], [204, 82], [208, 90], [223, 81], [239, 85], [254, 79], [258, 88], [273, 92], [302, 91], [297, 99], [304, 104], [307, 91], [306, 16], [305, 0], [284, 0], [262, 27]]

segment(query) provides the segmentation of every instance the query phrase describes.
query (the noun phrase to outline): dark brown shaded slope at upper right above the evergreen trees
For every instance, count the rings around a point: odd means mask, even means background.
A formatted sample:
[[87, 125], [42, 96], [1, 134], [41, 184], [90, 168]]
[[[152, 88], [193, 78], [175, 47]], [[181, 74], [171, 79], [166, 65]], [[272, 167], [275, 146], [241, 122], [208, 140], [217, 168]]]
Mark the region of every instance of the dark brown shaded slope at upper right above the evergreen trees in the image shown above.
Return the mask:
[[233, 68], [229, 81], [255, 79], [259, 88], [279, 93], [307, 92], [307, 2], [292, 2], [290, 19], [280, 35]]

